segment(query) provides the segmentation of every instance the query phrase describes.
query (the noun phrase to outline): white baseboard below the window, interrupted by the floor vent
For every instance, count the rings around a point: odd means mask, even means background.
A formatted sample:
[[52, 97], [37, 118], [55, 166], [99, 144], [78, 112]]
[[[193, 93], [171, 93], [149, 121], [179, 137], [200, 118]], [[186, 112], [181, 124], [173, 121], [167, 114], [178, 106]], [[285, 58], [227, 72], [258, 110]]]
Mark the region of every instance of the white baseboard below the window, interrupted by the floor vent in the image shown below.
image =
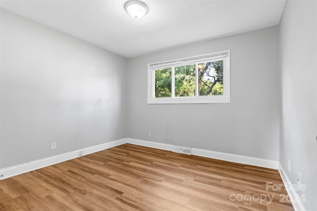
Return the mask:
[[[157, 149], [169, 150], [169, 151], [172, 151], [172, 147], [173, 147], [172, 144], [164, 144], [164, 143], [139, 140], [134, 138], [127, 138], [127, 143], [136, 144], [140, 146], [146, 146], [146, 147], [152, 147]], [[254, 158], [254, 157], [242, 156], [242, 155], [235, 155], [235, 154], [229, 154], [229, 153], [223, 153], [223, 152], [215, 152], [210, 150], [196, 149], [196, 148], [192, 148], [192, 149], [193, 149], [192, 151], [193, 155], [197, 155], [201, 157], [213, 158], [213, 159], [218, 159], [222, 161], [229, 161], [229, 162], [252, 165], [257, 167], [264, 167], [268, 169], [278, 169], [278, 161], [272, 161], [272, 160], [266, 160], [262, 158]]]

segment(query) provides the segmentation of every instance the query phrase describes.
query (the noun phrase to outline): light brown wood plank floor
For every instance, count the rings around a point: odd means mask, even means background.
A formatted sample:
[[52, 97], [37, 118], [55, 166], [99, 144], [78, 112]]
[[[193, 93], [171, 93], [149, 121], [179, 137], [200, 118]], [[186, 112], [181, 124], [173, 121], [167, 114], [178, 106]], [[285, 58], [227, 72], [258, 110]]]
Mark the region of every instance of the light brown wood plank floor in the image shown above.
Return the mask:
[[0, 210], [293, 211], [266, 182], [278, 171], [124, 144], [1, 180]]

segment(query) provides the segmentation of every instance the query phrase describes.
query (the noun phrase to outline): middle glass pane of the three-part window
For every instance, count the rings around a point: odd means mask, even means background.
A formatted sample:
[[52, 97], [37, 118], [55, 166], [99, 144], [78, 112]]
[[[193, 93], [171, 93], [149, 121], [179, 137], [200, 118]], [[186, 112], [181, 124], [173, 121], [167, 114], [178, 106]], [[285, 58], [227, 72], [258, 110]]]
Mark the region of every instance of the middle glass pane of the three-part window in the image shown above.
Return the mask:
[[196, 65], [175, 67], [175, 97], [195, 96]]

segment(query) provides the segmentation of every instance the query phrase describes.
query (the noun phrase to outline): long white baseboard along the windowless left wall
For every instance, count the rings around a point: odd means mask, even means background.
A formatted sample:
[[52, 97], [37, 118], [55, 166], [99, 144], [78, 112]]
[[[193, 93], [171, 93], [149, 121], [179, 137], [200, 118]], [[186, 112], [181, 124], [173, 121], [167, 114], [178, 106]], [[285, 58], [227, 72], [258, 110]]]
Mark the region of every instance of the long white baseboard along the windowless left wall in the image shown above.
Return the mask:
[[58, 164], [64, 161], [68, 161], [74, 158], [78, 158], [81, 156], [78, 156], [78, 152], [79, 151], [83, 151], [83, 155], [88, 155], [91, 153], [95, 153], [101, 150], [105, 150], [111, 147], [115, 147], [121, 144], [125, 144], [126, 143], [126, 138], [123, 139], [119, 139], [119, 140], [115, 140], [115, 141], [110, 141], [104, 144], [99, 144], [96, 146], [92, 146], [92, 147], [87, 147], [84, 149], [78, 149], [72, 152], [67, 152], [67, 153], [63, 153], [60, 155], [55, 155], [52, 157], [48, 157], [48, 158], [44, 158], [44, 159], [40, 159], [40, 160], [36, 160], [36, 161], [32, 161], [29, 163], [25, 163], [25, 164], [21, 164], [21, 165], [17, 165], [17, 166], [13, 166], [13, 167], [9, 167], [9, 168], [5, 168], [5, 169], [0, 169], [0, 175], [3, 175], [0, 177], [0, 179], [5, 179], [5, 178], [9, 178], [12, 176], [16, 176], [22, 173], [26, 173], [32, 170], [36, 170], [36, 169], [41, 169], [44, 167], [48, 167], [54, 164]]

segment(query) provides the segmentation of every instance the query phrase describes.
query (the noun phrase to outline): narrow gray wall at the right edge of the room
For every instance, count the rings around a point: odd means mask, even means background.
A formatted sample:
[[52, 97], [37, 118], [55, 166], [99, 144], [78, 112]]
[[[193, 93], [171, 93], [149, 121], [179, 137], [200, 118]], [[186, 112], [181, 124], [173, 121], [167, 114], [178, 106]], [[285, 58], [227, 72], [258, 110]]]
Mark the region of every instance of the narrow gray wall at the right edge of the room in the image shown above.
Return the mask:
[[[287, 1], [280, 22], [280, 163], [302, 174], [306, 210], [317, 210], [317, 1]], [[288, 171], [287, 161], [291, 161]]]

